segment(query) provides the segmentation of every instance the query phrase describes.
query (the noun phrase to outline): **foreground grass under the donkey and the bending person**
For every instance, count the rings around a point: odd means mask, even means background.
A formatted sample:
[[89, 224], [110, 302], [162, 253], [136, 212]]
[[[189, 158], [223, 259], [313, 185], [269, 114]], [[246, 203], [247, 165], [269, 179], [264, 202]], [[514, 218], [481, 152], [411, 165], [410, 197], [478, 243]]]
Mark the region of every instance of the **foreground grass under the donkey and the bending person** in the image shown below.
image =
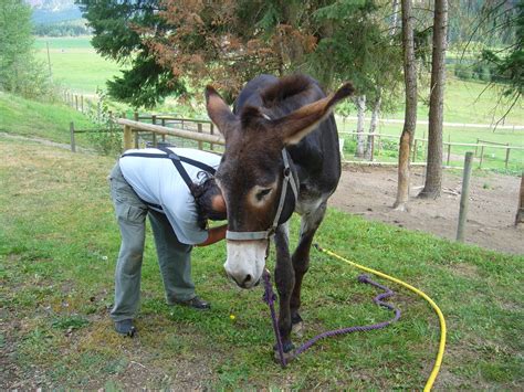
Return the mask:
[[[1, 136], [0, 153], [2, 388], [417, 390], [426, 382], [438, 320], [421, 298], [389, 283], [397, 292], [391, 301], [402, 310], [398, 324], [325, 340], [281, 369], [272, 360], [262, 290], [240, 290], [224, 278], [223, 243], [193, 251], [198, 293], [213, 305], [196, 312], [165, 304], [148, 233], [139, 335], [117, 337], [108, 309], [119, 234], [105, 180], [114, 160]], [[293, 239], [297, 225], [293, 220]], [[438, 389], [524, 386], [522, 256], [335, 210], [317, 241], [437, 301], [449, 326]], [[303, 289], [305, 338], [390, 317], [371, 303], [376, 290], [356, 283], [357, 271], [312, 252]]]

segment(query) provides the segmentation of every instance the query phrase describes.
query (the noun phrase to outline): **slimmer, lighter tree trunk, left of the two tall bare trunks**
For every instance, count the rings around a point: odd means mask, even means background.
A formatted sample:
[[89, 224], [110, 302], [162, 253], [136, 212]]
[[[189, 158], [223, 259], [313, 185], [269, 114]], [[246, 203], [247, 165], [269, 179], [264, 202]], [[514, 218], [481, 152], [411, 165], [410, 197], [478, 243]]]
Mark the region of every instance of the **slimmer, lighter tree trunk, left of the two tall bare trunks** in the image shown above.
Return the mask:
[[417, 125], [417, 68], [415, 63], [412, 0], [402, 0], [404, 80], [406, 84], [406, 113], [398, 151], [398, 188], [394, 208], [406, 211], [409, 201], [409, 155]]

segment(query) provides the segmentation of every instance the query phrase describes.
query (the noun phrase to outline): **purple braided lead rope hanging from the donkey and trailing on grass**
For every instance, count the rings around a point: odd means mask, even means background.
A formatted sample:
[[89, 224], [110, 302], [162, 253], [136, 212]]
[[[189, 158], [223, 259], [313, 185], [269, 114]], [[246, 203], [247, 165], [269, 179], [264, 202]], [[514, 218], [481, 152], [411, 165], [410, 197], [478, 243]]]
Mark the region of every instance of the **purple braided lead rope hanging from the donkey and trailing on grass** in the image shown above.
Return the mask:
[[[283, 346], [282, 346], [282, 338], [281, 338], [280, 330], [279, 330], [279, 321], [276, 319], [276, 314], [275, 314], [275, 309], [274, 309], [274, 301], [276, 300], [276, 295], [273, 292], [273, 285], [271, 284], [271, 276], [270, 276], [270, 273], [268, 271], [264, 272], [263, 277], [264, 277], [264, 285], [265, 285], [263, 300], [269, 305], [270, 310], [271, 310], [271, 319], [273, 321], [273, 330], [274, 330], [275, 336], [276, 336], [276, 348], [277, 348], [277, 351], [279, 351], [279, 358], [280, 358], [280, 362], [281, 362], [282, 367], [285, 368], [285, 365], [287, 364], [287, 361], [284, 357], [284, 349], [283, 349]], [[356, 332], [356, 331], [369, 331], [369, 330], [374, 330], [374, 329], [386, 328], [387, 326], [389, 326], [390, 324], [397, 321], [400, 318], [400, 310], [399, 309], [397, 309], [392, 305], [389, 305], [389, 304], [382, 301], [382, 299], [389, 298], [390, 296], [395, 295], [395, 293], [391, 289], [389, 289], [388, 287], [382, 286], [382, 285], [371, 280], [369, 278], [369, 276], [367, 276], [367, 275], [359, 275], [358, 276], [358, 282], [367, 283], [369, 285], [373, 285], [375, 287], [378, 287], [378, 288], [382, 289], [385, 293], [381, 293], [381, 294], [377, 295], [373, 300], [374, 300], [375, 304], [377, 304], [379, 306], [384, 306], [384, 307], [386, 307], [390, 310], [394, 310], [395, 311], [395, 317], [390, 320], [378, 322], [378, 324], [373, 324], [373, 325], [368, 325], [368, 326], [356, 326], [356, 327], [335, 329], [335, 330], [331, 330], [331, 331], [326, 331], [326, 332], [323, 332], [321, 335], [317, 335], [314, 338], [307, 340], [301, 347], [298, 347], [295, 350], [295, 352], [293, 352], [293, 354], [290, 359], [296, 358], [300, 353], [302, 353], [305, 350], [310, 349], [313, 345], [315, 345], [321, 339], [328, 338], [328, 337], [332, 337], [332, 336], [337, 336], [337, 335]]]

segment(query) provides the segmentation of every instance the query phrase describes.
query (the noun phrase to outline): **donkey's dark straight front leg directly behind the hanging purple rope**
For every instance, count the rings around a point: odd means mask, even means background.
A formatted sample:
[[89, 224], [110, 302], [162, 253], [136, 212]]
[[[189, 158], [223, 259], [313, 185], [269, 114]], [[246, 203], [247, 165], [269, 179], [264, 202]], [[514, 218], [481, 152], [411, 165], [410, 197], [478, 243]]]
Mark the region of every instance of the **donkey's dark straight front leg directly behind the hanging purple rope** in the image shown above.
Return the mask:
[[284, 352], [291, 352], [293, 343], [291, 342], [291, 293], [295, 284], [295, 274], [291, 264], [287, 224], [281, 224], [275, 233], [275, 283], [280, 297], [279, 308], [279, 329], [282, 338]]

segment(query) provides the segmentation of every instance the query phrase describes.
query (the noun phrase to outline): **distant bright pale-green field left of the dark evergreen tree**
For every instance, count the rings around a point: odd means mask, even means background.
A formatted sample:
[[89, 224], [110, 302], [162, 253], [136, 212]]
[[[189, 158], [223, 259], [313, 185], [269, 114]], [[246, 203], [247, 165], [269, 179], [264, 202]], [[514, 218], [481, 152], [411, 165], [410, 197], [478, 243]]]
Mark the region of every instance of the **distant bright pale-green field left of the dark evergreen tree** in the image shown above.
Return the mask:
[[49, 43], [54, 81], [74, 93], [93, 95], [96, 88], [106, 89], [106, 81], [119, 75], [123, 67], [98, 55], [90, 36], [38, 38], [36, 57], [48, 64]]

